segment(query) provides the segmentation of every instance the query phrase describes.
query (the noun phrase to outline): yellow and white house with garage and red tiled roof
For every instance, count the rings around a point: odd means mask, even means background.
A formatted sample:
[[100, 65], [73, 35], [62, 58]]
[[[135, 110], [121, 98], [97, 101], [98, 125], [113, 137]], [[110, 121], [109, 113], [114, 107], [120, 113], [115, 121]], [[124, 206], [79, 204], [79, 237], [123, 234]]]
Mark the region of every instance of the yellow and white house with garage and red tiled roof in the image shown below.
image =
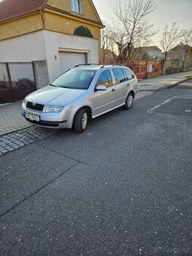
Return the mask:
[[[93, 38], [74, 35], [79, 26]], [[2, 0], [0, 62], [35, 62], [42, 87], [72, 66], [99, 62], [103, 27], [91, 0]]]

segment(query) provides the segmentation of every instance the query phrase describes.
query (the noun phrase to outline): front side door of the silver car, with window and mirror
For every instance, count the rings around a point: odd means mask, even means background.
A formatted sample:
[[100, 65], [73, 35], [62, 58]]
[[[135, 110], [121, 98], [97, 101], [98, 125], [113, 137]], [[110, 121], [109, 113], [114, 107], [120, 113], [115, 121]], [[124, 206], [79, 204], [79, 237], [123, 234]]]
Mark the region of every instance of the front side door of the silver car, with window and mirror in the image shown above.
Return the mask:
[[[98, 85], [105, 85], [106, 90], [96, 90]], [[115, 90], [109, 69], [105, 69], [96, 80], [93, 102], [93, 117], [99, 116], [115, 107]]]

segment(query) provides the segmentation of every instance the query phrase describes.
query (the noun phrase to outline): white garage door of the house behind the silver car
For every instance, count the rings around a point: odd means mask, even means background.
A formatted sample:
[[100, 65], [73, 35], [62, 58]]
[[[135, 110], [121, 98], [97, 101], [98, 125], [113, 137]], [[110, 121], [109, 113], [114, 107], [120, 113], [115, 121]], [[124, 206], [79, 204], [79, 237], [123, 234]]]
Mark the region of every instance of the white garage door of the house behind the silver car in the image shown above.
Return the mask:
[[78, 64], [85, 64], [87, 62], [87, 53], [64, 53], [59, 52], [60, 72], [71, 69]]

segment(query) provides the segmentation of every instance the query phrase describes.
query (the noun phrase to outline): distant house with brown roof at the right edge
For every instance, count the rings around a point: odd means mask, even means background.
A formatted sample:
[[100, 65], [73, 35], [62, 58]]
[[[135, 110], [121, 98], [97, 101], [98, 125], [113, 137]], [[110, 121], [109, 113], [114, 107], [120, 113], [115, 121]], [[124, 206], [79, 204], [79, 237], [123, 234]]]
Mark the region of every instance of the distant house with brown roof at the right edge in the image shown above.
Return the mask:
[[187, 44], [178, 44], [172, 50], [170, 50], [168, 59], [169, 60], [191, 60], [192, 48]]

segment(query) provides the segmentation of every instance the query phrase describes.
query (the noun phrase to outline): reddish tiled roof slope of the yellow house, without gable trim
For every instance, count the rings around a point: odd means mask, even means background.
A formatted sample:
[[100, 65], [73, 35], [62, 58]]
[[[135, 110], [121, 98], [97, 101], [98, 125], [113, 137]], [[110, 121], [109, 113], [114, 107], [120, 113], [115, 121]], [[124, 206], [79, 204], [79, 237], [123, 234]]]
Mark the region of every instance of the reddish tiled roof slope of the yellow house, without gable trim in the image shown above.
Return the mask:
[[0, 21], [38, 11], [46, 0], [0, 0]]

